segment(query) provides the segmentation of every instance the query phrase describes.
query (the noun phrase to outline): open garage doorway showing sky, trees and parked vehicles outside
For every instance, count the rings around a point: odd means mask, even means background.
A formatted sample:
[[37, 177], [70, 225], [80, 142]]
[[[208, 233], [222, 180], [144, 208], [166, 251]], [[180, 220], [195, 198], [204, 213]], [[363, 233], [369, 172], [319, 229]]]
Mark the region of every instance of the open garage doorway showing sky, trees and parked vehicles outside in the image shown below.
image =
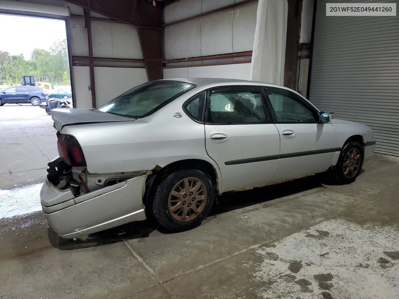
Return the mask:
[[51, 125], [49, 99], [73, 106], [65, 20], [0, 14], [0, 28], [2, 126]]

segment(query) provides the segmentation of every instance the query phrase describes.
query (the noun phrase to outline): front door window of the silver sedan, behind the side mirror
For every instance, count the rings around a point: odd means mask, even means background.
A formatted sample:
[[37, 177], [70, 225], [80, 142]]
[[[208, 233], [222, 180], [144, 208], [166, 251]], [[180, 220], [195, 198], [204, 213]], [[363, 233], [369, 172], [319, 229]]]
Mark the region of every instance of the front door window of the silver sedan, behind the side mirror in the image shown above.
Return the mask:
[[316, 113], [304, 104], [298, 95], [286, 89], [267, 87], [267, 96], [276, 115], [277, 122], [314, 123]]

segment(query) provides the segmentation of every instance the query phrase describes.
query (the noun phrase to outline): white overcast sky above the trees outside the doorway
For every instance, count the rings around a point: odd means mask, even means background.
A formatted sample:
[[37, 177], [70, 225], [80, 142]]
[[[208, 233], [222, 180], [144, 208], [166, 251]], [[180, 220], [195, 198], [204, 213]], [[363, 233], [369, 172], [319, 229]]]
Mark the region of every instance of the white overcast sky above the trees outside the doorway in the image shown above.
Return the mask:
[[65, 39], [65, 22], [0, 14], [0, 50], [10, 55], [24, 54], [26, 60], [34, 48], [48, 50], [53, 41]]

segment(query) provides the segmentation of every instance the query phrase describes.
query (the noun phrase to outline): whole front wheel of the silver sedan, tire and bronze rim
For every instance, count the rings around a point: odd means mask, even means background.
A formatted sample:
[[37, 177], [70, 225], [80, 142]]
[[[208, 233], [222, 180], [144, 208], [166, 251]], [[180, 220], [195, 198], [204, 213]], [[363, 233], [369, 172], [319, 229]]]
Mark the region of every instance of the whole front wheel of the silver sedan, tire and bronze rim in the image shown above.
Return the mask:
[[348, 184], [356, 180], [363, 166], [364, 149], [357, 141], [348, 142], [340, 153], [335, 167], [338, 183]]

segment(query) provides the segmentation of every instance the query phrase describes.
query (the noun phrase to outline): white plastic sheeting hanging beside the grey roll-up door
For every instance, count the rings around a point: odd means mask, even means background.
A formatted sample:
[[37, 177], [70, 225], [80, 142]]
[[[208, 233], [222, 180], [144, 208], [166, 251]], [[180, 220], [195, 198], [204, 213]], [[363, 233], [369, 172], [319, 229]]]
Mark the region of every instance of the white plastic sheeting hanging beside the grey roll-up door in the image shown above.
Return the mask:
[[250, 80], [283, 85], [287, 0], [259, 0]]

